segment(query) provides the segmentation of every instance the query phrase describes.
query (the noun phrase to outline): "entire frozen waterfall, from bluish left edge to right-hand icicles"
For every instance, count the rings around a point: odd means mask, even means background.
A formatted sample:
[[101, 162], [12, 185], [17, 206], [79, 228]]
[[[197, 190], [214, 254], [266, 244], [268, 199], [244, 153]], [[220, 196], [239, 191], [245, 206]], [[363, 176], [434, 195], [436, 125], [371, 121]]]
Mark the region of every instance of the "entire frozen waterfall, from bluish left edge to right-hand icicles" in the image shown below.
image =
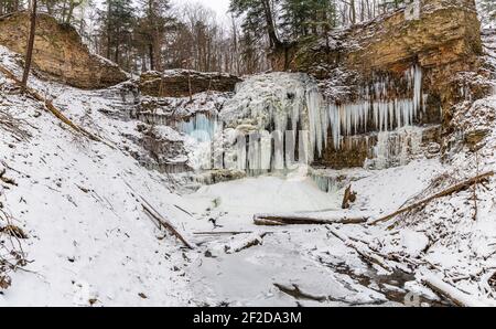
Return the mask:
[[391, 162], [389, 155], [401, 155], [412, 142], [411, 134], [397, 131], [411, 127], [425, 109], [422, 71], [416, 65], [401, 81], [378, 78], [357, 94], [353, 103], [330, 104], [305, 74], [261, 74], [238, 84], [218, 117], [198, 113], [177, 128], [212, 141], [216, 159], [203, 162], [250, 174], [311, 164], [327, 147], [327, 134], [338, 150], [354, 136], [379, 131], [374, 155], [375, 167], [382, 168]]

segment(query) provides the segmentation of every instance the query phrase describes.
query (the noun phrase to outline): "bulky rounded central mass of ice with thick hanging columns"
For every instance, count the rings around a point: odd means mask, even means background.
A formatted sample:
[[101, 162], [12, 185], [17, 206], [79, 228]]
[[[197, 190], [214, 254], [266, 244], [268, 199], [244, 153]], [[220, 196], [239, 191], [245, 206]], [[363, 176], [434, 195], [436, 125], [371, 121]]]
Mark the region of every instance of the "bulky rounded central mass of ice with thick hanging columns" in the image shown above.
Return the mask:
[[252, 173], [284, 170], [296, 160], [309, 164], [327, 140], [324, 99], [305, 74], [270, 73], [240, 83], [222, 119], [238, 139], [246, 136], [246, 150], [242, 142], [236, 149], [237, 168]]

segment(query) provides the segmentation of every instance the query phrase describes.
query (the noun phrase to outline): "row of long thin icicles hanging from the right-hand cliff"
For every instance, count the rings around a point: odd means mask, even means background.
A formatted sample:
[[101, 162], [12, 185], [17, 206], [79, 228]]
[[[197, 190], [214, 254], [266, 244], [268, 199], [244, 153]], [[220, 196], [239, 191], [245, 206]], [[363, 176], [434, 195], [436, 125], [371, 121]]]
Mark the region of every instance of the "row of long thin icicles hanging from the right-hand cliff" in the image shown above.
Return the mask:
[[343, 136], [373, 130], [391, 131], [411, 126], [421, 110], [425, 110], [428, 96], [422, 94], [422, 70], [416, 65], [405, 73], [406, 88], [411, 97], [391, 97], [396, 82], [381, 78], [360, 89], [360, 99], [328, 106], [334, 148], [341, 148]]

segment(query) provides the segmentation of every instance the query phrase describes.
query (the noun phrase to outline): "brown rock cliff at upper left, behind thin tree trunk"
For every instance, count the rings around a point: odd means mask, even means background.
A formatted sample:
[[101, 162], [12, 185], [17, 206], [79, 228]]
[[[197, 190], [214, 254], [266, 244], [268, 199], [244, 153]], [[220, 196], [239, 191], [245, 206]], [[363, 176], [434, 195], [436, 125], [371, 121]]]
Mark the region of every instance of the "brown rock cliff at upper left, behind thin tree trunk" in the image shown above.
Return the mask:
[[[0, 44], [24, 54], [29, 22], [26, 13], [0, 18]], [[33, 64], [41, 73], [79, 88], [104, 88], [128, 79], [115, 63], [90, 54], [74, 28], [47, 14], [37, 15]]]

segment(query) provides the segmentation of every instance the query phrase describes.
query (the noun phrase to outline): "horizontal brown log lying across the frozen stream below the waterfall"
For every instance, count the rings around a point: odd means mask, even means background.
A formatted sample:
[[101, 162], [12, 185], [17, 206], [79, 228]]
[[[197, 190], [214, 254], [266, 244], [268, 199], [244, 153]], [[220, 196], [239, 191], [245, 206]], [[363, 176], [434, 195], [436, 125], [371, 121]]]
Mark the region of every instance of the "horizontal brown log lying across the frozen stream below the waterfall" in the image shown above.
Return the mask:
[[368, 217], [336, 217], [336, 219], [315, 219], [302, 215], [265, 215], [254, 216], [256, 225], [283, 226], [283, 225], [326, 225], [326, 224], [362, 224], [366, 223]]

